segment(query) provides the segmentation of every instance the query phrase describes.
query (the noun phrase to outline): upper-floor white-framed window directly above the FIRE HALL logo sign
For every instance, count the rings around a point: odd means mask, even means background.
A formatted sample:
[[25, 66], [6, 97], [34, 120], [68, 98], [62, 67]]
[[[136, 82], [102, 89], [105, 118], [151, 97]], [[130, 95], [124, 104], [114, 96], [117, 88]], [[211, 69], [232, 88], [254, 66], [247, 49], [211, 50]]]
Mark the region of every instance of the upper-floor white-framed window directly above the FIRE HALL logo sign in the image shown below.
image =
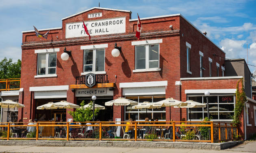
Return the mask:
[[83, 72], [105, 71], [105, 49], [84, 50]]

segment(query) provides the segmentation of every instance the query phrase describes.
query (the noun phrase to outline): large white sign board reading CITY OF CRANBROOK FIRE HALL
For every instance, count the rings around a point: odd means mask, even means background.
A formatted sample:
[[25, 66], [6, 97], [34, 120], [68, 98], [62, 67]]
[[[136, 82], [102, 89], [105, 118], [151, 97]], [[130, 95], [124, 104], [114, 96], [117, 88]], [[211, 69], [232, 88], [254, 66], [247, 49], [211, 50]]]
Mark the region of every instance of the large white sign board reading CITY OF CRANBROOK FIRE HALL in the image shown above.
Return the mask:
[[[125, 17], [85, 21], [91, 36], [125, 33]], [[66, 23], [66, 38], [88, 36], [82, 22]], [[88, 36], [89, 37], [89, 36]]]

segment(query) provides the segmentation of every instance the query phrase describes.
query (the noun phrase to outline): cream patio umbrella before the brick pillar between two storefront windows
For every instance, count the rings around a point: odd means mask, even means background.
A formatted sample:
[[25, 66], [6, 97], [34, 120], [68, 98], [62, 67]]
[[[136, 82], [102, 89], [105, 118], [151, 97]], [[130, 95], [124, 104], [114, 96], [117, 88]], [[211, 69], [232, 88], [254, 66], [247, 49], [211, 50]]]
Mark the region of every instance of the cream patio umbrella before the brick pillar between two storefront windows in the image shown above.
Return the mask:
[[167, 98], [165, 100], [161, 100], [160, 102], [153, 102], [152, 106], [161, 106], [161, 107], [170, 107], [170, 119], [171, 119], [171, 107], [174, 106], [187, 106], [187, 103], [181, 102], [179, 100], [175, 100], [174, 98]]

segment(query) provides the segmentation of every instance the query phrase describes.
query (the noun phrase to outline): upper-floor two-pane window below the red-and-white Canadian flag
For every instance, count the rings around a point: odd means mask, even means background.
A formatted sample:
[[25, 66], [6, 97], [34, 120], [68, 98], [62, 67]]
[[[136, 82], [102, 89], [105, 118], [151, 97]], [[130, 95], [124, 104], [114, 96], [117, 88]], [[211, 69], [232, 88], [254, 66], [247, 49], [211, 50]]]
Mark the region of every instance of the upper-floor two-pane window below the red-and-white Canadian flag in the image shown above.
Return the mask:
[[159, 44], [135, 46], [135, 69], [159, 68]]

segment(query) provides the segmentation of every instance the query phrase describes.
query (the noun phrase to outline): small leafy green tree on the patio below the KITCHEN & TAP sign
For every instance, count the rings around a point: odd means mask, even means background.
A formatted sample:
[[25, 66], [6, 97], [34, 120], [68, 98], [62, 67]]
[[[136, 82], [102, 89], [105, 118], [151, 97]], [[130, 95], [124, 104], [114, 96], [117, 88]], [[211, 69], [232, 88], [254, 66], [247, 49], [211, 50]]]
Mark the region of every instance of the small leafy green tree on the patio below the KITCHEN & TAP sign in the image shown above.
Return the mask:
[[[85, 101], [83, 100], [81, 102], [81, 107], [76, 108], [76, 111], [68, 111], [68, 113], [73, 117], [74, 121], [77, 122], [86, 122], [86, 121], [91, 121], [93, 119], [93, 102], [91, 101], [89, 103], [89, 107], [84, 108], [85, 106]], [[99, 109], [94, 110], [94, 116], [98, 116]]]

